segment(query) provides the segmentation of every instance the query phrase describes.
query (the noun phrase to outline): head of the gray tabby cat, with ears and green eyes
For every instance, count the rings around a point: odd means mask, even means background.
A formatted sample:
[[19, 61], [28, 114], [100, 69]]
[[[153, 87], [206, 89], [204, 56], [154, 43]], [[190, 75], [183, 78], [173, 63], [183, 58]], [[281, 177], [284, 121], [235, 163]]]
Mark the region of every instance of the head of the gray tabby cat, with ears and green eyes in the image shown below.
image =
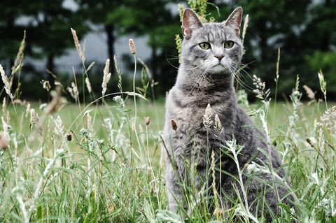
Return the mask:
[[193, 10], [186, 8], [182, 20], [184, 68], [195, 75], [234, 72], [243, 54], [239, 38], [242, 13], [239, 7], [224, 22], [202, 23]]

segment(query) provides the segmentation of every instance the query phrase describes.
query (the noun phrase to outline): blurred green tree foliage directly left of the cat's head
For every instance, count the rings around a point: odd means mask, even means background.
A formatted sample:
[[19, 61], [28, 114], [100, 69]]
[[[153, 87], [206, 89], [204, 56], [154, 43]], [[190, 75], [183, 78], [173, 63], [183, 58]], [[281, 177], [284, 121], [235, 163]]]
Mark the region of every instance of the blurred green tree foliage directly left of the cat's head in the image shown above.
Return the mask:
[[[106, 33], [109, 58], [115, 55], [114, 43], [125, 34], [134, 36], [148, 35], [151, 46], [151, 70], [153, 78], [172, 85], [174, 70], [167, 64], [166, 55], [174, 52], [174, 34], [179, 31], [179, 20], [172, 15], [172, 8], [165, 0], [78, 0], [80, 13], [95, 25], [101, 25]], [[169, 56], [168, 56], [169, 57]], [[158, 75], [165, 72], [171, 78]], [[169, 85], [168, 85], [169, 86]], [[166, 87], [164, 90], [167, 89]]]

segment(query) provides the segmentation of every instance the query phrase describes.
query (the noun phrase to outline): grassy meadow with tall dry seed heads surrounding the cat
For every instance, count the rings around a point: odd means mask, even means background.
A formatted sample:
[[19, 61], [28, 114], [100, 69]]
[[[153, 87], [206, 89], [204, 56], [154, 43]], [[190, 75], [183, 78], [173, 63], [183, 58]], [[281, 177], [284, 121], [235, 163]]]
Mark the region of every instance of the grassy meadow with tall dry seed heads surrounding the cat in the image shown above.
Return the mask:
[[[86, 83], [83, 91], [90, 92], [90, 65], [85, 64], [76, 33], [73, 36], [83, 62], [79, 78]], [[244, 198], [237, 200], [235, 208], [216, 206], [211, 212], [209, 198], [187, 185], [183, 188], [188, 211], [167, 209], [161, 138], [164, 103], [146, 96], [153, 86], [146, 66], [136, 85], [137, 54], [132, 41], [130, 50], [135, 63], [133, 91], [123, 91], [117, 67], [119, 82], [110, 85], [118, 85], [120, 92], [105, 94], [111, 76], [106, 66], [103, 96], [97, 98], [90, 92], [91, 102], [86, 103], [79, 99], [76, 79], [67, 88], [58, 83], [50, 89], [43, 82], [45, 94], [50, 94], [48, 103], [21, 101], [1, 71], [8, 96], [1, 113], [0, 221], [265, 222], [265, 217], [246, 209]], [[258, 78], [257, 103], [249, 104], [244, 90], [237, 93], [239, 105], [265, 132], [267, 143], [279, 150], [291, 184], [293, 204], [281, 204], [274, 222], [336, 220], [336, 107], [327, 100], [323, 73], [318, 76], [324, 99], [316, 99], [307, 86], [302, 89], [299, 78], [288, 101], [271, 100]], [[277, 75], [276, 81], [281, 81], [281, 76]], [[73, 96], [75, 103], [64, 103], [65, 93]], [[300, 101], [306, 93], [311, 101]], [[246, 171], [252, 177], [255, 172], [267, 171], [276, 178], [267, 166], [251, 164], [239, 170]]]

